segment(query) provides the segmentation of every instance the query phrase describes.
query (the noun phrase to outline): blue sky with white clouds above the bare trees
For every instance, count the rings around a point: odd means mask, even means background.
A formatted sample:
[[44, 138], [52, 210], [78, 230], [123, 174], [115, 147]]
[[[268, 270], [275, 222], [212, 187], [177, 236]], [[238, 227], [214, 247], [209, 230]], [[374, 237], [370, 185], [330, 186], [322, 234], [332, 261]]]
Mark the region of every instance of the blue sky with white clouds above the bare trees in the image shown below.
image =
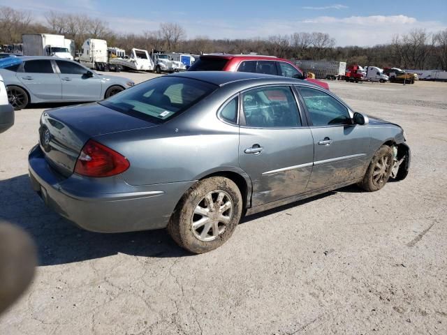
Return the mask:
[[188, 38], [266, 38], [320, 31], [340, 46], [389, 43], [394, 34], [412, 29], [447, 29], [447, 0], [0, 0], [0, 6], [26, 8], [42, 22], [49, 10], [86, 13], [105, 20], [114, 31], [135, 34], [156, 30], [161, 22], [180, 24]]

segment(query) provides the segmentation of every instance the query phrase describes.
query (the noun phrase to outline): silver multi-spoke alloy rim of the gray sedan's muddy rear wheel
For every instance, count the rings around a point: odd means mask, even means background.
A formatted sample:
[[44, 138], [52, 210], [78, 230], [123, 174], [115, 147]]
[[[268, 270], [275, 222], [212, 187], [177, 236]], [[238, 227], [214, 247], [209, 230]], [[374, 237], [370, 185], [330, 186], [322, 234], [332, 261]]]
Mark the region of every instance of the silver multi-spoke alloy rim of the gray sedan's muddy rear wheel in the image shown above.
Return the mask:
[[225, 232], [233, 217], [233, 200], [225, 191], [212, 191], [198, 202], [191, 217], [191, 230], [200, 241], [213, 241]]

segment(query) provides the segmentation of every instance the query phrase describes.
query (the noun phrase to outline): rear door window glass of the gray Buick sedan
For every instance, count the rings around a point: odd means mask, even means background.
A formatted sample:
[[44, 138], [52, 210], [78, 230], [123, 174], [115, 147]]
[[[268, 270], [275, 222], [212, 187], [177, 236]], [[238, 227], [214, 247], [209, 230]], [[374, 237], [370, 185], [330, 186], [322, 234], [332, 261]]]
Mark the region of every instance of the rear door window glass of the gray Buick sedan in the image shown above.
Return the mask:
[[290, 87], [263, 87], [242, 95], [245, 123], [249, 127], [301, 126], [298, 105]]

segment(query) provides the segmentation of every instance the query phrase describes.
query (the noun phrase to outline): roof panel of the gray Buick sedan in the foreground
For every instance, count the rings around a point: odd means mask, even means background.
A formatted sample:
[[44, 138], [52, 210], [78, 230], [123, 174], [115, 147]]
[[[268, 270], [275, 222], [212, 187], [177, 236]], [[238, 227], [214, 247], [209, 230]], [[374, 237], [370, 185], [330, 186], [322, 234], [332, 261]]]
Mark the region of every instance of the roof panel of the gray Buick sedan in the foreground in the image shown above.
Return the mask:
[[271, 84], [305, 84], [307, 86], [314, 86], [304, 80], [281, 77], [279, 75], [264, 75], [262, 73], [249, 73], [249, 72], [229, 72], [229, 71], [186, 71], [182, 73], [174, 73], [168, 75], [168, 77], [185, 77], [195, 80], [201, 80], [203, 82], [209, 82], [218, 86], [230, 84], [232, 82], [240, 81], [259, 81], [263, 80]]

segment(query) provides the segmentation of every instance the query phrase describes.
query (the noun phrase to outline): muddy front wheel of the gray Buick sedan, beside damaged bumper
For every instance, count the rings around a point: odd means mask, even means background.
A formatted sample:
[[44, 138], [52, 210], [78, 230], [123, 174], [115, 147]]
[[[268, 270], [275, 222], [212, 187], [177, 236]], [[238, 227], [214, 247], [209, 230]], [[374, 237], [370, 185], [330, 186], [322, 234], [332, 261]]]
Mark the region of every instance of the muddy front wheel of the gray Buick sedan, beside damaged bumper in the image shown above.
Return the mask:
[[358, 186], [369, 192], [379, 191], [390, 178], [393, 166], [393, 149], [388, 147], [388, 145], [383, 145], [374, 154], [365, 176]]

